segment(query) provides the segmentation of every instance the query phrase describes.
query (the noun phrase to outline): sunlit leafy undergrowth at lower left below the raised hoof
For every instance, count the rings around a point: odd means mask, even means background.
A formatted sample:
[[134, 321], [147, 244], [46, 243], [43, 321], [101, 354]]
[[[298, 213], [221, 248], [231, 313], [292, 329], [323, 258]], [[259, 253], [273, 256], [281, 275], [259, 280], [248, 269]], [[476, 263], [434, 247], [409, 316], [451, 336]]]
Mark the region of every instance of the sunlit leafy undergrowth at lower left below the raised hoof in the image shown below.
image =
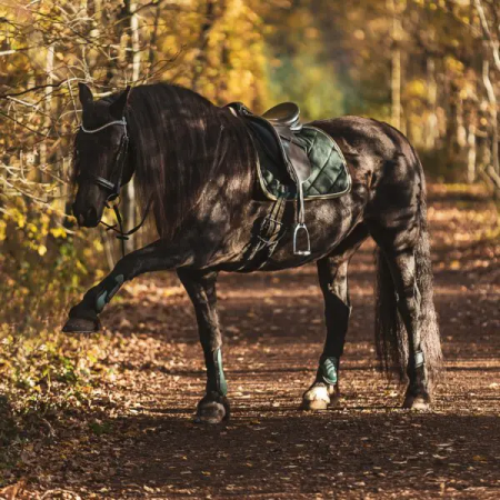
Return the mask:
[[54, 330], [37, 336], [1, 332], [0, 487], [13, 471], [29, 469], [24, 456], [34, 442], [50, 443], [72, 418], [94, 412], [97, 389], [109, 368], [106, 334], [68, 337]]

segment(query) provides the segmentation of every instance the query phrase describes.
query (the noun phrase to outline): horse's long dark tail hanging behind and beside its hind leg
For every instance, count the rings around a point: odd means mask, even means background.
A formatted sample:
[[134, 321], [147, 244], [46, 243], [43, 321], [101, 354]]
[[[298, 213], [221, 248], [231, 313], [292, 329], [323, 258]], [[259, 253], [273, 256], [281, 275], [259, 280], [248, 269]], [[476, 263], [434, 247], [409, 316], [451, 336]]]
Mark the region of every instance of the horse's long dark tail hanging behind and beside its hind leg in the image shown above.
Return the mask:
[[[430, 389], [438, 381], [442, 369], [441, 340], [433, 301], [433, 277], [427, 223], [426, 187], [419, 207], [420, 233], [414, 248], [416, 280], [420, 292], [421, 350], [426, 360]], [[407, 381], [409, 339], [398, 313], [398, 297], [383, 252], [378, 249], [376, 291], [376, 343], [383, 371]]]

